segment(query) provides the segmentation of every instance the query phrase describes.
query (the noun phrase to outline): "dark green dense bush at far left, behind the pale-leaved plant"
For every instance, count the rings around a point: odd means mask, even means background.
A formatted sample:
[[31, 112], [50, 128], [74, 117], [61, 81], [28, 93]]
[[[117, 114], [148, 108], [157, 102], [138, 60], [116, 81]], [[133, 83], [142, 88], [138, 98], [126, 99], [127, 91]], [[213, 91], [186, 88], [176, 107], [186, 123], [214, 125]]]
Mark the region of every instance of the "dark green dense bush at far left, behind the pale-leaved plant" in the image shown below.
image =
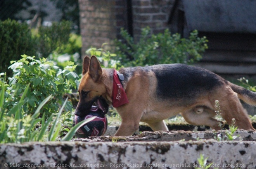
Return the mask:
[[0, 72], [11, 71], [7, 68], [10, 61], [18, 60], [22, 54], [36, 53], [35, 40], [27, 24], [20, 24], [15, 20], [0, 21]]

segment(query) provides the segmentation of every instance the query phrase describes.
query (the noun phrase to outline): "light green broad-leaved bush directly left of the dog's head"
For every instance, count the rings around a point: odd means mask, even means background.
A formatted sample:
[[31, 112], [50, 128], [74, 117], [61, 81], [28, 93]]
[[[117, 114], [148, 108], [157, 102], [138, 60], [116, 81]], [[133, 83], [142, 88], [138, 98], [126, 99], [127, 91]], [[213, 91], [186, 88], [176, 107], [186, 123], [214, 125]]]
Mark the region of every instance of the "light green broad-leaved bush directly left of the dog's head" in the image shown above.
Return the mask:
[[[12, 61], [9, 68], [14, 74], [12, 78], [9, 78], [9, 88], [6, 91], [7, 98], [12, 98], [6, 101], [8, 103], [7, 110], [18, 103], [18, 97], [10, 97], [14, 91], [17, 96], [22, 95], [26, 86], [31, 83], [24, 98], [26, 104], [22, 105], [23, 114], [29, 115], [35, 112], [36, 107], [47, 96], [52, 95], [54, 96], [52, 101], [46, 103], [42, 108], [46, 118], [50, 117], [51, 114], [57, 113], [60, 105], [63, 104], [62, 96], [65, 93], [70, 93], [71, 88], [76, 88], [79, 84], [78, 75], [73, 72], [76, 66], [71, 61], [62, 70], [55, 66], [54, 62], [47, 61], [45, 58], [36, 60], [35, 56], [22, 55], [19, 61]], [[4, 85], [3, 82], [1, 84]], [[72, 108], [71, 102], [68, 101], [66, 110], [71, 111]]]

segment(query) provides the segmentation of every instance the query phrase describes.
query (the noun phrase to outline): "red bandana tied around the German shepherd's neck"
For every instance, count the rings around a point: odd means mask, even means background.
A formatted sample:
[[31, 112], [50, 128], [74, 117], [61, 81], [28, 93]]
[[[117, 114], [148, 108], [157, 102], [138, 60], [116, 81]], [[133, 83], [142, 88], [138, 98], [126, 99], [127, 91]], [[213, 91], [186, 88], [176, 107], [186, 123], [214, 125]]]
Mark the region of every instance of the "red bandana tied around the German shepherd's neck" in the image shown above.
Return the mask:
[[113, 107], [119, 107], [121, 105], [124, 105], [126, 103], [129, 103], [125, 90], [123, 89], [123, 86], [121, 85], [121, 82], [119, 80], [117, 71], [114, 70], [113, 74], [113, 91], [112, 91], [112, 106]]

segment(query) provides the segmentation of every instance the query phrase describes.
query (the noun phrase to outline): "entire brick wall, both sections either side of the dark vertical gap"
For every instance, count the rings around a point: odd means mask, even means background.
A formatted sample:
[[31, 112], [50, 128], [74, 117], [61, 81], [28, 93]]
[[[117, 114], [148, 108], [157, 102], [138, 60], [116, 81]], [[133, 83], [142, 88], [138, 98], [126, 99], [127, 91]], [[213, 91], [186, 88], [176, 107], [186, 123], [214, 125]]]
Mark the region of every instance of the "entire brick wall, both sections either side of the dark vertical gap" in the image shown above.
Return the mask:
[[[100, 48], [103, 43], [110, 47], [120, 38], [121, 27], [129, 29], [135, 41], [141, 29], [149, 26], [151, 33], [168, 28], [168, 18], [174, 0], [79, 0], [82, 56], [91, 46]], [[129, 6], [130, 5], [130, 6]], [[132, 14], [128, 9], [132, 10]]]

